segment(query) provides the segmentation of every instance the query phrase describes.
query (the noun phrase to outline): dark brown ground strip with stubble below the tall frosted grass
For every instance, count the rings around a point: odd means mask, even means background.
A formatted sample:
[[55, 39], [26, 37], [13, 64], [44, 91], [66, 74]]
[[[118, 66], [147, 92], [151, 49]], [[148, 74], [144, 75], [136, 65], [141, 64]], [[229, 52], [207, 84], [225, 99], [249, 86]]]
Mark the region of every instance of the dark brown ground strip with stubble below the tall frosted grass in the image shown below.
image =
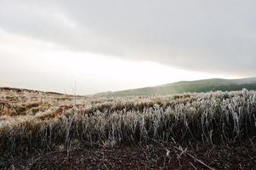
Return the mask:
[[148, 144], [82, 147], [0, 156], [0, 169], [255, 169], [256, 144]]

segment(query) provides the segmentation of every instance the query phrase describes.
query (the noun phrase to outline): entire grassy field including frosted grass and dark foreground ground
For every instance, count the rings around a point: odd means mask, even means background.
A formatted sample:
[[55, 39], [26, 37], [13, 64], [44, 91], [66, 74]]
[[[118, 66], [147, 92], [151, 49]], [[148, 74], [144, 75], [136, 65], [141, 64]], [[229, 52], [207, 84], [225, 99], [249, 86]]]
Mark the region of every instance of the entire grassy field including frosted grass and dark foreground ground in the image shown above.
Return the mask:
[[253, 169], [255, 136], [253, 90], [107, 98], [0, 89], [0, 169]]

